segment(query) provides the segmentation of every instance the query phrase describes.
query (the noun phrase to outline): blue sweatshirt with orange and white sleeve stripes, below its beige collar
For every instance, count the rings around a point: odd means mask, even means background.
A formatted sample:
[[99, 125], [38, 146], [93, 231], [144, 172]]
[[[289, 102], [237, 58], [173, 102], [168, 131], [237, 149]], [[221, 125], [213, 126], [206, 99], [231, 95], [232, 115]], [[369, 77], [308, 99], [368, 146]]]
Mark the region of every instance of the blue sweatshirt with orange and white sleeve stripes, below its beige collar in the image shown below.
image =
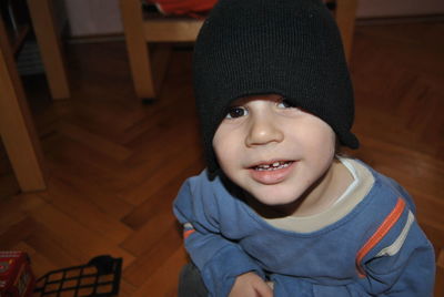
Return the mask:
[[228, 296], [248, 272], [273, 281], [276, 297], [432, 296], [434, 252], [414, 219], [412, 198], [364, 166], [372, 176], [364, 197], [309, 232], [270, 224], [224, 177], [211, 181], [204, 171], [186, 180], [174, 214], [210, 296]]

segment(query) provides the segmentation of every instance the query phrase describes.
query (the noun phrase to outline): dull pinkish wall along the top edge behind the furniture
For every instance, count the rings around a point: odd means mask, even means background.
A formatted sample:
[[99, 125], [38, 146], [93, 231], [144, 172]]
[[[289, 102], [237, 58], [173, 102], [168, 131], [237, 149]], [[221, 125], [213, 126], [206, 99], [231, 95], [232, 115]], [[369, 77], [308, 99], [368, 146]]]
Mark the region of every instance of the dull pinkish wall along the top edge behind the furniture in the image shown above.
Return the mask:
[[[119, 0], [64, 0], [73, 37], [122, 32]], [[444, 14], [443, 0], [360, 0], [357, 18]]]

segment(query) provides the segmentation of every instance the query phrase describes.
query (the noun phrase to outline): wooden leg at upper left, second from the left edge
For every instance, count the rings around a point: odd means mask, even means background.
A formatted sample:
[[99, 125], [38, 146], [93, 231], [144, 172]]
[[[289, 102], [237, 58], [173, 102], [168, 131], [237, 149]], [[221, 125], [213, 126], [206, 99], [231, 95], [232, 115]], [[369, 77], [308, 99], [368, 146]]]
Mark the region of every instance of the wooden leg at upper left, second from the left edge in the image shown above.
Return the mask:
[[53, 99], [67, 99], [70, 96], [70, 90], [52, 0], [28, 0], [28, 8], [51, 95]]

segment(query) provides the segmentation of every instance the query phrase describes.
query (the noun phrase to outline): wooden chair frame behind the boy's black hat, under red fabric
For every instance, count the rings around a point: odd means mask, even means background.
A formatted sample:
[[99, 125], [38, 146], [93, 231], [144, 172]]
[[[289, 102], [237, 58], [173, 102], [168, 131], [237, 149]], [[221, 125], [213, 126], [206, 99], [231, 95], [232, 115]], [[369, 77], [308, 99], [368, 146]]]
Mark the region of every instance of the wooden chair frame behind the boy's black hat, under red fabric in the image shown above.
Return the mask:
[[[335, 19], [349, 59], [357, 0], [335, 0]], [[120, 0], [123, 30], [135, 93], [153, 100], [162, 83], [168, 63], [168, 47], [150, 52], [148, 44], [193, 42], [203, 23], [191, 18], [170, 18], [145, 13], [140, 0]], [[155, 73], [155, 76], [153, 75]]]

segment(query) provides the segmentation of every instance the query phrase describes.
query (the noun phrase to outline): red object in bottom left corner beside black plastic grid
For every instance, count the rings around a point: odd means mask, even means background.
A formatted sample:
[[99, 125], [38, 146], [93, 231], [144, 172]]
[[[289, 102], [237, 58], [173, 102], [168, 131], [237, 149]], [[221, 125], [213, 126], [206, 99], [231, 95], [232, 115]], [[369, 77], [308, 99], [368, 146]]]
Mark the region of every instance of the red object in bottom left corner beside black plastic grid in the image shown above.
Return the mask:
[[30, 297], [36, 278], [23, 252], [0, 252], [0, 297]]

